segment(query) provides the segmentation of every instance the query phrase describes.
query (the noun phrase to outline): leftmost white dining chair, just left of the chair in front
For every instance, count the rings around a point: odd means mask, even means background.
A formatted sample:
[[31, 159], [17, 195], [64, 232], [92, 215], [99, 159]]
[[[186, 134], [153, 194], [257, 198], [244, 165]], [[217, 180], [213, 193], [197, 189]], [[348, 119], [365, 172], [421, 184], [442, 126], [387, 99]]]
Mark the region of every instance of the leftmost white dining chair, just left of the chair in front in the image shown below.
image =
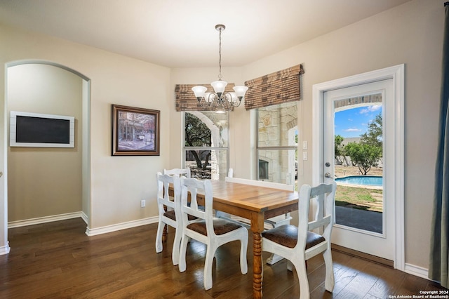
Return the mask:
[[[181, 182], [179, 175], [163, 175], [158, 172], [157, 179], [157, 207], [159, 211], [159, 222], [156, 232], [156, 253], [163, 250], [162, 235], [166, 225], [175, 228], [175, 240], [171, 258], [173, 265], [177, 265], [180, 254], [182, 236], [181, 217]], [[168, 185], [173, 184], [174, 197], [168, 196]], [[173, 200], [172, 200], [173, 199]]]

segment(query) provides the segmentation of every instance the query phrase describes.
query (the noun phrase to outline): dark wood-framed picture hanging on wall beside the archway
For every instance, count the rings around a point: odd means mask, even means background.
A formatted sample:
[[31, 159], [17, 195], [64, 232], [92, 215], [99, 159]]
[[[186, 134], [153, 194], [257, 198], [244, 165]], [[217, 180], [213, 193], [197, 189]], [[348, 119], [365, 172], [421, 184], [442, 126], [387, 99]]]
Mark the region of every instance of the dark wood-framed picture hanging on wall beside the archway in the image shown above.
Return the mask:
[[112, 156], [159, 156], [159, 114], [112, 105]]

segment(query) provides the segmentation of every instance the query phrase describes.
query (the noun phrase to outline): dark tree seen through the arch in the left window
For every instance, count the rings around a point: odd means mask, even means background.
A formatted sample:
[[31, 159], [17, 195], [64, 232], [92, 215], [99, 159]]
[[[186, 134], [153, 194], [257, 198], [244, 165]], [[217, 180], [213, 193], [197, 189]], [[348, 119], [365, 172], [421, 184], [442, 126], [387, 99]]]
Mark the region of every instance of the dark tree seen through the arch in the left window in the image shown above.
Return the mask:
[[[203, 147], [212, 145], [212, 134], [210, 132], [210, 128], [206, 126], [206, 124], [201, 121], [198, 117], [195, 117], [194, 114], [186, 112], [185, 114], [185, 145], [187, 147]], [[210, 158], [210, 150], [206, 151], [206, 157], [204, 157], [204, 163], [201, 161], [201, 152], [204, 151], [196, 151], [189, 150], [195, 158], [196, 166], [203, 170], [206, 170], [206, 167], [209, 164]]]

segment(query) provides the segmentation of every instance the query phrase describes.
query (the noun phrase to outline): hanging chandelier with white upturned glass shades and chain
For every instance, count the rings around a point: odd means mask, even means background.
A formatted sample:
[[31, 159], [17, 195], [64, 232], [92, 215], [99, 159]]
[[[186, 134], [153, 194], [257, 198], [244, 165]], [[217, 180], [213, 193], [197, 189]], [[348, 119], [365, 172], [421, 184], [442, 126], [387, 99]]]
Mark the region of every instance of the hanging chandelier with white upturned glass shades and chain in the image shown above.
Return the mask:
[[218, 80], [213, 81], [210, 85], [213, 87], [213, 93], [206, 93], [208, 90], [205, 86], [194, 86], [192, 91], [195, 93], [195, 97], [198, 100], [198, 106], [208, 108], [217, 113], [225, 113], [226, 111], [239, 107], [241, 100], [245, 96], [248, 87], [235, 86], [234, 92], [225, 92], [227, 81], [222, 80], [222, 31], [225, 30], [225, 25], [215, 25], [215, 29], [220, 32], [220, 44], [218, 51]]

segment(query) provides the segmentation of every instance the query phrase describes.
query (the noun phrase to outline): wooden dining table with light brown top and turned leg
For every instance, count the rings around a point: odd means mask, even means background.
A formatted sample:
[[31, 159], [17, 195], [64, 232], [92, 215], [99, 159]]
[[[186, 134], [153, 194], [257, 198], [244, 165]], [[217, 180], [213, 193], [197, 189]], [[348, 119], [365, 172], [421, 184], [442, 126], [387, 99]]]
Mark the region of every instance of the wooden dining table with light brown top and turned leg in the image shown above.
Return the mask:
[[[299, 194], [270, 187], [211, 180], [213, 209], [250, 220], [253, 232], [253, 298], [262, 298], [264, 220], [297, 210]], [[173, 196], [173, 186], [169, 188]], [[198, 199], [201, 201], [201, 194]]]

